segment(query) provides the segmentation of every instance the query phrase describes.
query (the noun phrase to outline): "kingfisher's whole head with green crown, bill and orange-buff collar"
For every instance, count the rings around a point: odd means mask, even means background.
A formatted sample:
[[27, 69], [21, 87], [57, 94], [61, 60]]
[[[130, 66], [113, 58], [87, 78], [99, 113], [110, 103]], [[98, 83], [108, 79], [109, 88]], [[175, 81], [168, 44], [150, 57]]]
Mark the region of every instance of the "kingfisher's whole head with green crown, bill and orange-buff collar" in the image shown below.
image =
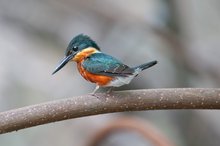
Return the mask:
[[58, 72], [63, 68], [69, 61], [79, 62], [83, 58], [89, 56], [92, 53], [100, 51], [99, 46], [89, 36], [79, 34], [75, 36], [69, 43], [65, 57], [61, 63], [56, 67], [52, 74]]

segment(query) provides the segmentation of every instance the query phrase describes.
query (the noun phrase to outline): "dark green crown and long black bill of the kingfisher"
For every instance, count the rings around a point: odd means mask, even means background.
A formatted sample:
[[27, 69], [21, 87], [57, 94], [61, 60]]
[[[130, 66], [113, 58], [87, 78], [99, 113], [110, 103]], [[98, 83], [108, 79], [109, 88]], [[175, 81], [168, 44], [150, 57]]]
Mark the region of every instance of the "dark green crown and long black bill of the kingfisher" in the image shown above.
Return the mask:
[[100, 51], [99, 46], [96, 44], [95, 41], [93, 41], [89, 36], [84, 34], [79, 34], [75, 36], [69, 43], [66, 52], [65, 57], [61, 61], [61, 63], [56, 67], [54, 72], [52, 74], [55, 74], [57, 71], [59, 71], [61, 68], [63, 68], [70, 60], [76, 56], [77, 53], [80, 51], [86, 49], [86, 48], [95, 48], [96, 50]]

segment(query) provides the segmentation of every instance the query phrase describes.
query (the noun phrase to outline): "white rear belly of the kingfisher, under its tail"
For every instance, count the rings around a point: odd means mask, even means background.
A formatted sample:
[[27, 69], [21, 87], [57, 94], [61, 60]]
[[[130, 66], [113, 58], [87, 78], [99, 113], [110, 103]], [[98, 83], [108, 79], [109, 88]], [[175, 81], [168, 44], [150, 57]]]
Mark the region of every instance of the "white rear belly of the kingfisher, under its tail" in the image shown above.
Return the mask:
[[129, 84], [134, 77], [135, 75], [128, 77], [115, 77], [112, 81], [105, 85], [105, 87], [120, 87]]

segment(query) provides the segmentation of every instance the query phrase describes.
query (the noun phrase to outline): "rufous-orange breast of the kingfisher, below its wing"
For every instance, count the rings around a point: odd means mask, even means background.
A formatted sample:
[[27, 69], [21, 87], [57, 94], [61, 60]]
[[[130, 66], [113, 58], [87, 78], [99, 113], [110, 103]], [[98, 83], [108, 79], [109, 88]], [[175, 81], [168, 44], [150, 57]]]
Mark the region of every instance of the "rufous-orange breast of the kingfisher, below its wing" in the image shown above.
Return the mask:
[[77, 68], [78, 68], [80, 74], [86, 80], [88, 80], [88, 81], [90, 81], [92, 83], [96, 83], [99, 86], [105, 86], [105, 85], [107, 85], [112, 80], [112, 77], [103, 76], [103, 75], [96, 75], [96, 74], [93, 74], [93, 73], [90, 73], [90, 72], [86, 71], [82, 67], [82, 61], [77, 63]]

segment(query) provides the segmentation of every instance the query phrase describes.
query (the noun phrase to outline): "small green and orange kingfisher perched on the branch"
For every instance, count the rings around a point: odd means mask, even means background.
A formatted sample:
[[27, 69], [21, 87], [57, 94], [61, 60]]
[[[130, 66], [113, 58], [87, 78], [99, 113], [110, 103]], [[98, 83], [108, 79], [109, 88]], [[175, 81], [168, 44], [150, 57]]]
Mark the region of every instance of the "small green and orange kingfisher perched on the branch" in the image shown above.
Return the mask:
[[157, 64], [155, 60], [129, 67], [118, 59], [102, 53], [96, 42], [84, 34], [79, 34], [70, 41], [64, 59], [52, 74], [70, 61], [76, 62], [79, 73], [87, 81], [96, 84], [92, 95], [95, 95], [99, 87], [111, 87], [110, 89], [112, 89], [112, 87], [129, 84], [141, 71]]

